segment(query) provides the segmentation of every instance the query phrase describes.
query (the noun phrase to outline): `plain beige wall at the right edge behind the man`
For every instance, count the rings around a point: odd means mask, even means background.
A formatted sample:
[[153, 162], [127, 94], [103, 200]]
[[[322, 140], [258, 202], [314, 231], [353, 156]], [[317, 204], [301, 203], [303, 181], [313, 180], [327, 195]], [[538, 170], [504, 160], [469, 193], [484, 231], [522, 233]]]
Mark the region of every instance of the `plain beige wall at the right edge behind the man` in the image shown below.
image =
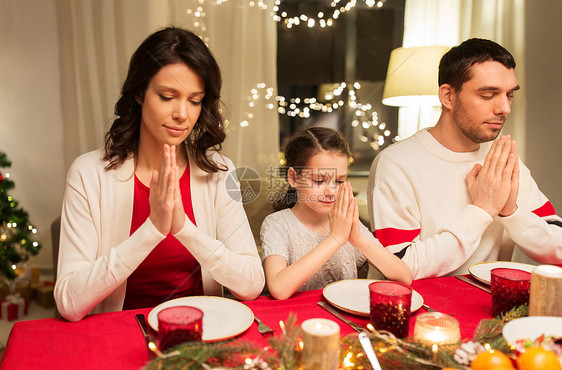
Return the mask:
[[525, 2], [525, 163], [562, 214], [562, 1]]

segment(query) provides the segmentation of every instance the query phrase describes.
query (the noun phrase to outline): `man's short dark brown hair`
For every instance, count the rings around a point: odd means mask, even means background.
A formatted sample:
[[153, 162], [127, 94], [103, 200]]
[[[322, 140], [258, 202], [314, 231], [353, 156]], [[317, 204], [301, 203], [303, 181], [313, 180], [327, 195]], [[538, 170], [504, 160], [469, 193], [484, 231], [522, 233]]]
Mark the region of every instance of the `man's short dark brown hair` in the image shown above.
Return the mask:
[[439, 86], [448, 84], [460, 91], [472, 77], [472, 66], [490, 60], [515, 69], [513, 55], [494, 41], [472, 38], [452, 47], [439, 62]]

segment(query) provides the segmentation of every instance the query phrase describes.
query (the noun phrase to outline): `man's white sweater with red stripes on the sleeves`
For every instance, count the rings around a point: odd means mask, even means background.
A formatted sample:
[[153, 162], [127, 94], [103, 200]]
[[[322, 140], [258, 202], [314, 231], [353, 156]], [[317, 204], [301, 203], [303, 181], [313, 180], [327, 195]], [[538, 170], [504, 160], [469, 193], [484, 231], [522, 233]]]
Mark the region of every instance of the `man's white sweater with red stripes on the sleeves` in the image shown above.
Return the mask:
[[484, 162], [491, 144], [456, 153], [424, 129], [373, 161], [367, 190], [371, 229], [415, 279], [511, 260], [515, 245], [537, 262], [562, 263], [562, 219], [523, 163], [513, 215], [492, 218], [471, 204], [465, 178]]

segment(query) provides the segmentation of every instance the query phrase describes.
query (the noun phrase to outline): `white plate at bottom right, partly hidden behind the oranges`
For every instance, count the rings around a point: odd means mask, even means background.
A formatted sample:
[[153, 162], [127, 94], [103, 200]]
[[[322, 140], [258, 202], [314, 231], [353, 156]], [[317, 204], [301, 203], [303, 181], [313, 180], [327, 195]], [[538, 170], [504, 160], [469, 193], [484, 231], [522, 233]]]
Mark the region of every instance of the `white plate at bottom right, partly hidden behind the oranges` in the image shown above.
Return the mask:
[[502, 334], [506, 342], [511, 345], [515, 345], [518, 339], [534, 341], [541, 334], [562, 337], [562, 317], [521, 317], [505, 324]]

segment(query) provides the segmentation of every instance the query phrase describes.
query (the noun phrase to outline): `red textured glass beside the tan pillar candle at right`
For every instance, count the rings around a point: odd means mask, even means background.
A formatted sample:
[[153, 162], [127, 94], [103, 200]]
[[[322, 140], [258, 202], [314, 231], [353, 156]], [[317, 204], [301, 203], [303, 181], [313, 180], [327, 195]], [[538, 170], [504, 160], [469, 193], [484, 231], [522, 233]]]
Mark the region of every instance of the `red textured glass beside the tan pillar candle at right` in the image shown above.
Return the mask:
[[509, 268], [491, 271], [492, 316], [505, 314], [514, 307], [529, 304], [531, 273]]

